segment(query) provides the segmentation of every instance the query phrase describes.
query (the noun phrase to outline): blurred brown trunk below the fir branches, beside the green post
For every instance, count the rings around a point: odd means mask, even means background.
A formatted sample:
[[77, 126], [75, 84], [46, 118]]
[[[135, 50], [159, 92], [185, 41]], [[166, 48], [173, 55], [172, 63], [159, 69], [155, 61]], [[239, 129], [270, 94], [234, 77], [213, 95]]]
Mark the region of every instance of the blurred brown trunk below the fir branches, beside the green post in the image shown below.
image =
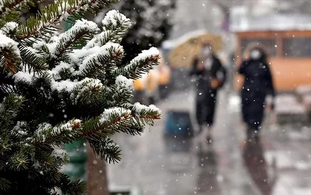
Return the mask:
[[101, 160], [101, 158], [93, 152], [89, 145], [87, 146], [87, 153], [88, 195], [109, 195], [106, 165], [104, 160]]

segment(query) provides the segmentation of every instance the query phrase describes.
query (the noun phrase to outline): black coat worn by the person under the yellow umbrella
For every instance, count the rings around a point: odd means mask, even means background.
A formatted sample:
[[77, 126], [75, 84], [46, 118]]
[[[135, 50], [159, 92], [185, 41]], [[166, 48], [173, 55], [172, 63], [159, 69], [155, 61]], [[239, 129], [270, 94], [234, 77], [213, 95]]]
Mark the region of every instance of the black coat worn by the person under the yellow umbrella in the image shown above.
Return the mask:
[[190, 76], [196, 75], [198, 77], [196, 82], [196, 117], [199, 125], [202, 125], [204, 122], [212, 125], [214, 122], [217, 89], [210, 88], [211, 78], [217, 78], [217, 74], [222, 73], [224, 77], [223, 82], [226, 80], [226, 69], [219, 59], [215, 56], [212, 58], [213, 63], [209, 71], [197, 68], [198, 63], [200, 63], [199, 59], [194, 60], [192, 70], [190, 71]]

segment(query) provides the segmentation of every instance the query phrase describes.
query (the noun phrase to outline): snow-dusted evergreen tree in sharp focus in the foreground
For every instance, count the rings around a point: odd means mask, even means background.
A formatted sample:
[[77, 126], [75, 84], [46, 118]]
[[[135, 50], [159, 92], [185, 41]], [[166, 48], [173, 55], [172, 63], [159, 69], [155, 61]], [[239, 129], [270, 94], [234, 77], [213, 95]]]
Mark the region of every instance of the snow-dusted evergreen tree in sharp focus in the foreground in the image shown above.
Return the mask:
[[109, 11], [100, 29], [76, 20], [115, 0], [58, 0], [19, 23], [29, 0], [0, 6], [0, 195], [81, 195], [85, 185], [60, 172], [69, 157], [61, 149], [88, 142], [107, 162], [120, 160], [109, 136], [140, 135], [161, 117], [155, 106], [131, 104], [133, 78], [158, 64], [156, 48], [124, 64], [122, 36], [130, 21]]

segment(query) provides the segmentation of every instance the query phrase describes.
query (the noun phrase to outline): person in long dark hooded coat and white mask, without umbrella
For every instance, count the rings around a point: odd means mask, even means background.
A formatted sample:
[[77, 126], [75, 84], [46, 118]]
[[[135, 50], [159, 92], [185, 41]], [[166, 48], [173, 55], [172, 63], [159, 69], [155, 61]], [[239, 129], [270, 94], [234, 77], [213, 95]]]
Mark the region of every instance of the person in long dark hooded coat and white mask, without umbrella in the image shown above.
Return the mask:
[[248, 136], [258, 138], [266, 95], [270, 93], [275, 97], [267, 55], [261, 47], [249, 49], [249, 58], [242, 62], [239, 73], [245, 77], [242, 88], [243, 120], [248, 125]]

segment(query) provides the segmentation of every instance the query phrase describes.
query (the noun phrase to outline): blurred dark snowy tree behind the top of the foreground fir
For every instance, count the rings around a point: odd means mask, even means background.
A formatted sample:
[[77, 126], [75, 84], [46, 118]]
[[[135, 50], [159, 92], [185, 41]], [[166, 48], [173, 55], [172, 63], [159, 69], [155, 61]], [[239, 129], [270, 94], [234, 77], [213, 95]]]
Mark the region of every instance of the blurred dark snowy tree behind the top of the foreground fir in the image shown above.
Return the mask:
[[[133, 22], [121, 42], [125, 50], [124, 61], [150, 46], [161, 46], [172, 28], [175, 4], [175, 0], [122, 0], [114, 6]], [[96, 17], [97, 23], [103, 19], [106, 10]]]

